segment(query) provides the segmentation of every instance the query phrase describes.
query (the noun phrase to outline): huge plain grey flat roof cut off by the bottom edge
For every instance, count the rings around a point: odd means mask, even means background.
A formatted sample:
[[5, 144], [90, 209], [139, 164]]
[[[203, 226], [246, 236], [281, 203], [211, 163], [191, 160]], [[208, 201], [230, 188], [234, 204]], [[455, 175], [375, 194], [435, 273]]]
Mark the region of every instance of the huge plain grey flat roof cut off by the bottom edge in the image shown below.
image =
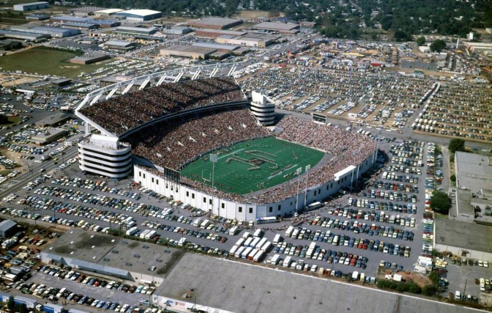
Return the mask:
[[[191, 298], [183, 299], [183, 294]], [[196, 308], [209, 312], [214, 311], [212, 308], [241, 313], [474, 311], [350, 283], [191, 253], [187, 253], [171, 270], [154, 292], [154, 300], [157, 296], [192, 304], [195, 297]]]

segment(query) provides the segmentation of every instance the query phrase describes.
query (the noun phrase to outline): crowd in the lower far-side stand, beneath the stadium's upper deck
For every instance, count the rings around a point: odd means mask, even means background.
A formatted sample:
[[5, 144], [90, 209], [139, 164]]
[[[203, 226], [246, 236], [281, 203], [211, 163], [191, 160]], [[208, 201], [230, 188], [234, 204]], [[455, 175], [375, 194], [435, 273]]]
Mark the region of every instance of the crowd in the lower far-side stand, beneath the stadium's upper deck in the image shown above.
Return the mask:
[[250, 110], [240, 107], [158, 123], [131, 135], [129, 141], [133, 154], [177, 170], [197, 155], [268, 135]]

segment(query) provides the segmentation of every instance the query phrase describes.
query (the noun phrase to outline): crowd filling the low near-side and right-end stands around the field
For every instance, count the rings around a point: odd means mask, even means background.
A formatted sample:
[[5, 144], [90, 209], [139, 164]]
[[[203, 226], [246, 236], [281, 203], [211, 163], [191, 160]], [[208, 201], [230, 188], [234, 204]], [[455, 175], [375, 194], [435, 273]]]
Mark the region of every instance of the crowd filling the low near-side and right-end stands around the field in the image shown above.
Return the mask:
[[[233, 116], [234, 118], [237, 118], [239, 114], [234, 113]], [[280, 139], [319, 148], [325, 150], [326, 152], [334, 154], [335, 158], [333, 158], [330, 162], [327, 162], [318, 168], [314, 168], [309, 173], [309, 187], [318, 186], [332, 181], [335, 177], [335, 173], [347, 168], [350, 165], [357, 166], [357, 164], [363, 162], [365, 159], [373, 155], [374, 150], [376, 149], [376, 143], [373, 140], [368, 139], [367, 136], [359, 135], [357, 133], [346, 131], [337, 127], [315, 124], [309, 120], [297, 119], [292, 116], [284, 118], [278, 124], [278, 127], [284, 129], [283, 132], [281, 132], [281, 134], [279, 135]], [[220, 136], [215, 136], [214, 141], [219, 140], [219, 138]], [[149, 147], [155, 147], [153, 143], [149, 143], [148, 145]], [[142, 149], [148, 148], [144, 148], [142, 146]], [[136, 149], [134, 149], [134, 152], [135, 151]], [[151, 157], [152, 154], [153, 153], [150, 152]], [[161, 161], [160, 159], [159, 161], [160, 162], [156, 164], [162, 165], [163, 161]], [[306, 179], [308, 179], [306, 175], [300, 177], [301, 186], [306, 185]], [[188, 185], [191, 188], [202, 190], [205, 193], [212, 194], [212, 187], [194, 181], [190, 178], [181, 176], [180, 182], [181, 184]], [[218, 198], [234, 201], [237, 203], [256, 204], [268, 204], [278, 202], [290, 197], [294, 197], [296, 195], [296, 192], [297, 180], [292, 180], [285, 184], [277, 185], [262, 193], [255, 193], [254, 195], [241, 195], [237, 193], [225, 192], [218, 189], [214, 190], [214, 193]]]

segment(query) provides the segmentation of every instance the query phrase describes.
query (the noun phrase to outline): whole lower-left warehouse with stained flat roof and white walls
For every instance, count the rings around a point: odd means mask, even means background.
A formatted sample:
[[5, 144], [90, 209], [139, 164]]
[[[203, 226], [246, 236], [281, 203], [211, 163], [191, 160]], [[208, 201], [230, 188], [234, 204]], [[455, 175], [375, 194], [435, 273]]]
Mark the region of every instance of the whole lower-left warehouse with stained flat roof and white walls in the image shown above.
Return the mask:
[[158, 286], [169, 270], [167, 267], [178, 262], [183, 254], [181, 250], [165, 246], [73, 228], [45, 248], [41, 259], [46, 263]]

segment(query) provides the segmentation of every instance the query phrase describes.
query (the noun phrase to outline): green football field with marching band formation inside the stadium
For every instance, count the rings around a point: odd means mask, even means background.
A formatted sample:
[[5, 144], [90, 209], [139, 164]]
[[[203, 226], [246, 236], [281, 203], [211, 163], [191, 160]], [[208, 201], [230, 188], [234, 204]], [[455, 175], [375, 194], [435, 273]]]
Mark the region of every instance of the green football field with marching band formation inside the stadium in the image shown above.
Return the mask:
[[[296, 170], [313, 168], [324, 153], [276, 138], [261, 138], [213, 151], [218, 155], [214, 185], [239, 194], [272, 187], [296, 177]], [[212, 185], [210, 153], [181, 169], [181, 175]]]

